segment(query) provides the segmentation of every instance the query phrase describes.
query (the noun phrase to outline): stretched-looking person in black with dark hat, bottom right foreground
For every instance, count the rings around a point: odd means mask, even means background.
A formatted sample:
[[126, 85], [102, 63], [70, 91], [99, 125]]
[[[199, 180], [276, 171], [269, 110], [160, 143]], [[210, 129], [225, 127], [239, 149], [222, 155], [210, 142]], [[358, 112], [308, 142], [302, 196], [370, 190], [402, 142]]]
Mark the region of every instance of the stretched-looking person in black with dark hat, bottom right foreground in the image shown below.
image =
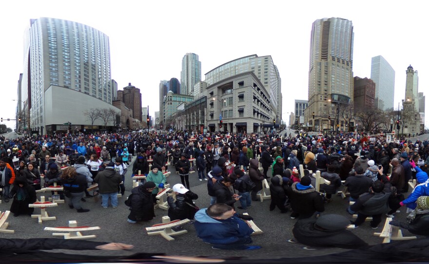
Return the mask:
[[367, 246], [365, 241], [347, 230], [349, 225], [350, 221], [342, 215], [325, 214], [317, 219], [298, 220], [293, 226], [292, 233], [297, 242], [309, 246], [350, 249]]

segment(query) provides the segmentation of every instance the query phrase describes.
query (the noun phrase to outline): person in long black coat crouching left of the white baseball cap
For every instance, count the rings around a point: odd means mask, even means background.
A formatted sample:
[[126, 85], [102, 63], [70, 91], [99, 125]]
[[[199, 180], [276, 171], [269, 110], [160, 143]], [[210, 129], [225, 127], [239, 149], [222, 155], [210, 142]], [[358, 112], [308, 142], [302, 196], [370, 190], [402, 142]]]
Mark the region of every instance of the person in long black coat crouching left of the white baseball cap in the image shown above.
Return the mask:
[[155, 217], [153, 190], [157, 190], [154, 182], [147, 181], [131, 190], [131, 207], [128, 215], [129, 223], [151, 221]]

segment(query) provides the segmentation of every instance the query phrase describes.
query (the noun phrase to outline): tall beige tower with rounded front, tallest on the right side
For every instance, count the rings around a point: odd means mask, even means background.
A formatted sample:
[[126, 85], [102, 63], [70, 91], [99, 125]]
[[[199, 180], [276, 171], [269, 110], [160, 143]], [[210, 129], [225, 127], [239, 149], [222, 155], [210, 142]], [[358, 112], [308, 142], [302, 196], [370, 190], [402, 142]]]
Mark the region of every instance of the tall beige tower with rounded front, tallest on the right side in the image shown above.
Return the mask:
[[[330, 115], [353, 100], [353, 25], [340, 18], [312, 24], [305, 119], [315, 131], [329, 129]], [[312, 113], [316, 113], [314, 118]], [[338, 124], [337, 124], [338, 125]], [[340, 129], [337, 126], [337, 129]]]

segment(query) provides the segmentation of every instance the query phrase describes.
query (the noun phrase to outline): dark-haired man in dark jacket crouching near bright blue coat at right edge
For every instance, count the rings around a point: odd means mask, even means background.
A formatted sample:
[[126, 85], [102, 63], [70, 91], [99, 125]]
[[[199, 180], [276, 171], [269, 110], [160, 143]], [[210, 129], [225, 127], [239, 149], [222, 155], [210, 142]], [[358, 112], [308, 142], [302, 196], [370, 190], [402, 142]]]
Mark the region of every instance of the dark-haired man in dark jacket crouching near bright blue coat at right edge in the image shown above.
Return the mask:
[[377, 228], [381, 222], [381, 216], [389, 211], [388, 200], [391, 194], [391, 184], [386, 174], [383, 174], [383, 168], [378, 171], [381, 174], [381, 181], [373, 182], [371, 192], [359, 196], [350, 207], [351, 211], [357, 212], [356, 221], [352, 223], [355, 226], [361, 225], [367, 217], [372, 216], [370, 226]]

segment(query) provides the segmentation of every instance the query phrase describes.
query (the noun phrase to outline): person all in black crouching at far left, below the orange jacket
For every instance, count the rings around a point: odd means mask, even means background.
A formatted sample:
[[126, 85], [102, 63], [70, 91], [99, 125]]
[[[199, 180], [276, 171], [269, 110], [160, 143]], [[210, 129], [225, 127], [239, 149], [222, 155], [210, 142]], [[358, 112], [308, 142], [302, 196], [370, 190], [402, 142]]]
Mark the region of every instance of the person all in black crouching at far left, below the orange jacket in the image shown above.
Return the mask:
[[36, 190], [27, 184], [27, 181], [23, 178], [16, 179], [14, 186], [9, 193], [9, 199], [13, 198], [10, 211], [14, 216], [20, 214], [31, 215], [34, 208], [28, 207], [29, 204], [34, 204], [37, 200]]

